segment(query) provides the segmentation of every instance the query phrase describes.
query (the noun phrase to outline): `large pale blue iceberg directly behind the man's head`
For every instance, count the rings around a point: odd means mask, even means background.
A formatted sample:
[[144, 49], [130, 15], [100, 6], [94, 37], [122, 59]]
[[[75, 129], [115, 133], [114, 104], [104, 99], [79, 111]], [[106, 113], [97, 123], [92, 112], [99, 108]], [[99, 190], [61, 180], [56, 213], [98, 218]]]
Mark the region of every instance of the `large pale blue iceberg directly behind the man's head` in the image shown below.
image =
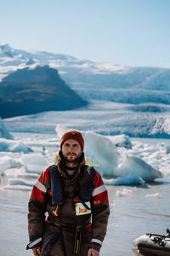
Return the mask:
[[[61, 137], [66, 130], [65, 126], [57, 125], [55, 131]], [[162, 177], [162, 173], [150, 166], [144, 160], [133, 154], [120, 154], [109, 137], [99, 135], [92, 131], [82, 131], [85, 141], [84, 152], [95, 163], [99, 164], [96, 169], [104, 177], [105, 184], [130, 185], [150, 182]], [[117, 137], [116, 137], [117, 140]]]

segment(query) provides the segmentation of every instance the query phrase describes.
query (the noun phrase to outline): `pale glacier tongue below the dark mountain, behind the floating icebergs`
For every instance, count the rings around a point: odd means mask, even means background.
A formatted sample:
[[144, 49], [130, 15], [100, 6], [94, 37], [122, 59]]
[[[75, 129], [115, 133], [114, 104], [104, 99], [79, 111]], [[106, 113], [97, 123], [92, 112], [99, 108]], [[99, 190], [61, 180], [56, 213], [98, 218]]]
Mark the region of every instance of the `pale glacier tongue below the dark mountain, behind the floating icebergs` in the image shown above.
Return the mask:
[[169, 105], [164, 112], [136, 112], [132, 104], [90, 101], [87, 108], [72, 111], [50, 111], [11, 119], [3, 119], [8, 131], [55, 134], [56, 125], [81, 131], [128, 137], [170, 137]]

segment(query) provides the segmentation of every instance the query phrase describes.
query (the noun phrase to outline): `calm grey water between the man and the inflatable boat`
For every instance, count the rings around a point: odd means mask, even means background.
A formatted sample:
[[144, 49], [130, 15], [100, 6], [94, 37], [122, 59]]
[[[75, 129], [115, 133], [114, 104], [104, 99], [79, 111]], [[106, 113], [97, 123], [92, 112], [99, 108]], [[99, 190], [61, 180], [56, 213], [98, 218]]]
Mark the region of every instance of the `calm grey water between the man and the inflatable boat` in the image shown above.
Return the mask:
[[[134, 238], [145, 234], [165, 234], [169, 227], [169, 183], [155, 183], [148, 188], [128, 187], [131, 195], [116, 197], [116, 190], [124, 187], [110, 187], [111, 217], [108, 234], [102, 249], [103, 255], [133, 255]], [[145, 195], [160, 193], [161, 199]], [[111, 252], [111, 253], [109, 253]], [[134, 254], [135, 255], [135, 254]]]

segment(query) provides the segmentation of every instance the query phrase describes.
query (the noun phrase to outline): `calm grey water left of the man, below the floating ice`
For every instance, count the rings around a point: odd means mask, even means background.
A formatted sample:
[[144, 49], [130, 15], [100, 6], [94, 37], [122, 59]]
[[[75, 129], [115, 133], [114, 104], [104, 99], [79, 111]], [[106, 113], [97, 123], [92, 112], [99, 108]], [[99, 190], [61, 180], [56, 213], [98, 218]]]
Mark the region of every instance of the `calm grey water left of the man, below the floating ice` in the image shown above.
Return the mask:
[[27, 202], [29, 192], [0, 191], [0, 255], [25, 256], [27, 237]]

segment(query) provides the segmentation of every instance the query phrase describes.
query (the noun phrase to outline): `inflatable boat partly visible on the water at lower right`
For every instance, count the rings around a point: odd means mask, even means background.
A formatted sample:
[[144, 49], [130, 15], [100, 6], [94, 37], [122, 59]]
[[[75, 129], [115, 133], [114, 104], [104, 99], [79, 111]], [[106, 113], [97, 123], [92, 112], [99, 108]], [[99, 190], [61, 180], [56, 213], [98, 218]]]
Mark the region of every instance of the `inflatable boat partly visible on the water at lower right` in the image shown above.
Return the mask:
[[145, 234], [133, 241], [138, 252], [144, 256], [170, 256], [170, 231], [166, 236]]

